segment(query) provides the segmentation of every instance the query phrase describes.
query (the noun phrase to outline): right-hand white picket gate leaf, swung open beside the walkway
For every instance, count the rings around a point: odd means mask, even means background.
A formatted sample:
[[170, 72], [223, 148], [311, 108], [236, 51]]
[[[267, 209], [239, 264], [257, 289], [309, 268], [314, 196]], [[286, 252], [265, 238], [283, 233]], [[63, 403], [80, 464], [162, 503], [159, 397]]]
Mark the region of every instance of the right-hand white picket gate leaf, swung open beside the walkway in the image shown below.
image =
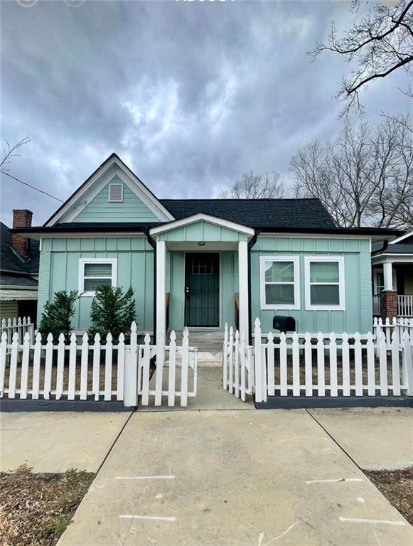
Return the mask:
[[254, 387], [254, 348], [245, 344], [245, 334], [228, 331], [225, 323], [224, 346], [222, 349], [222, 385], [230, 394], [245, 402], [247, 395], [253, 394]]

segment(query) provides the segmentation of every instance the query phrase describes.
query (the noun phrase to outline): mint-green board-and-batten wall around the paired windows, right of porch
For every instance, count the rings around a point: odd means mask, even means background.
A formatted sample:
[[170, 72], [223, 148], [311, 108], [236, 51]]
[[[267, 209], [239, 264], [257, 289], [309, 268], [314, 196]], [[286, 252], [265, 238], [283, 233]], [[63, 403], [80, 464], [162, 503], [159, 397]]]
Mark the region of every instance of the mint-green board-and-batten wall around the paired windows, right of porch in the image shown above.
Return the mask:
[[[299, 256], [300, 309], [261, 309], [259, 257]], [[305, 256], [344, 257], [345, 311], [306, 311]], [[299, 332], [367, 333], [372, 328], [370, 240], [323, 237], [259, 236], [251, 252], [252, 321], [258, 316], [262, 331], [272, 330], [277, 315], [293, 316]]]

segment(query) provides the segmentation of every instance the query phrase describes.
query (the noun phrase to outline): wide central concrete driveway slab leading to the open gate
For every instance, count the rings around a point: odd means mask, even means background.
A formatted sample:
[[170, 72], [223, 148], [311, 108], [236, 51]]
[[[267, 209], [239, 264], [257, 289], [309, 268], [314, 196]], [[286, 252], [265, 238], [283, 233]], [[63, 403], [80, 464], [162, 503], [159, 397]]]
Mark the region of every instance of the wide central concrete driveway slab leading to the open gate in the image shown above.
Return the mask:
[[59, 546], [412, 541], [308, 412], [235, 410], [133, 414]]

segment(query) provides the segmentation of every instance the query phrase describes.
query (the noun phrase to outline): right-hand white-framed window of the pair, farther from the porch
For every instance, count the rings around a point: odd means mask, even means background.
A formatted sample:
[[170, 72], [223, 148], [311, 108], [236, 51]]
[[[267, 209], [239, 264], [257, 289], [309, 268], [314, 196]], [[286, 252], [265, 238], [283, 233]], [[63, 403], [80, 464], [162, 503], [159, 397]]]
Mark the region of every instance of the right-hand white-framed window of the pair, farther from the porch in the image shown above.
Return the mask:
[[344, 257], [306, 256], [306, 309], [345, 310]]

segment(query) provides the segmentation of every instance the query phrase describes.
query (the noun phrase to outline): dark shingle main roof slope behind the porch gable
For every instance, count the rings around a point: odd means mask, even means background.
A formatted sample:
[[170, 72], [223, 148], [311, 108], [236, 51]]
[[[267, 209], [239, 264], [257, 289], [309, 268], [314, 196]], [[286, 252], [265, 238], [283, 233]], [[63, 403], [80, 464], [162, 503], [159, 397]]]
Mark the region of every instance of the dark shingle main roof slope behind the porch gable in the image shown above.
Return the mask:
[[161, 199], [179, 220], [196, 213], [250, 228], [336, 228], [318, 199]]

